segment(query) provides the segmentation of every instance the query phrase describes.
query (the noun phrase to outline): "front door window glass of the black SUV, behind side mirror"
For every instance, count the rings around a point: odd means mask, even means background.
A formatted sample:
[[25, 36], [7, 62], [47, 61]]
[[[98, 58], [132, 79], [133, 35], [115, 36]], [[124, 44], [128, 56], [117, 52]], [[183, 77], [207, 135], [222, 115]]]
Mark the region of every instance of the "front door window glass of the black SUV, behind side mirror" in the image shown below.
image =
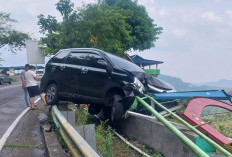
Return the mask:
[[99, 64], [99, 60], [104, 60], [101, 56], [93, 53], [89, 53], [86, 66], [88, 67], [94, 67], [94, 68], [100, 68], [100, 69], [105, 69], [106, 66]]

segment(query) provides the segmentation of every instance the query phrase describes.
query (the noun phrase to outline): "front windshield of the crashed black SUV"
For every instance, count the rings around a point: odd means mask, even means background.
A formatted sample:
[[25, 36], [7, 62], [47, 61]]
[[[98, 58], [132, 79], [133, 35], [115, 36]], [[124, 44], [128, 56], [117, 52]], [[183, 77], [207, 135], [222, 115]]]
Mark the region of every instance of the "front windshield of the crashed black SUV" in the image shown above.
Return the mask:
[[106, 53], [107, 56], [110, 58], [110, 60], [113, 62], [113, 64], [119, 68], [131, 71], [131, 72], [144, 72], [143, 69], [141, 69], [136, 64], [129, 62], [125, 59], [122, 59], [120, 57], [117, 57], [115, 55]]

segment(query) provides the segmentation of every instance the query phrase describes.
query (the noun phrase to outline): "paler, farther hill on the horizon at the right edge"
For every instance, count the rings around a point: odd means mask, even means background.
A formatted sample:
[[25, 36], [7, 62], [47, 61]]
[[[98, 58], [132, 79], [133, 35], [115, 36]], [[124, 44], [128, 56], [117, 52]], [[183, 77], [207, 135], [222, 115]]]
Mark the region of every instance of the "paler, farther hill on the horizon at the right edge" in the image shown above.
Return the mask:
[[195, 84], [195, 85], [198, 85], [198, 86], [202, 86], [202, 85], [216, 86], [216, 87], [219, 87], [219, 88], [232, 88], [232, 80], [222, 79], [222, 80], [219, 80], [219, 81], [216, 81], [216, 82], [205, 82], [205, 83], [198, 83], [198, 84]]

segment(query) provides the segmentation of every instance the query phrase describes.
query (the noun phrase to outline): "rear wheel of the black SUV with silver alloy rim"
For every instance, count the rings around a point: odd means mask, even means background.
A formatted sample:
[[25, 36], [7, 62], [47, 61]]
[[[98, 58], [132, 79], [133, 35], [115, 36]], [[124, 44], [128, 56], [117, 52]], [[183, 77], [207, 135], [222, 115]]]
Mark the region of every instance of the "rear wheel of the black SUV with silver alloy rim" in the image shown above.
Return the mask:
[[54, 105], [58, 102], [58, 91], [55, 83], [50, 84], [45, 91], [45, 100], [47, 104]]

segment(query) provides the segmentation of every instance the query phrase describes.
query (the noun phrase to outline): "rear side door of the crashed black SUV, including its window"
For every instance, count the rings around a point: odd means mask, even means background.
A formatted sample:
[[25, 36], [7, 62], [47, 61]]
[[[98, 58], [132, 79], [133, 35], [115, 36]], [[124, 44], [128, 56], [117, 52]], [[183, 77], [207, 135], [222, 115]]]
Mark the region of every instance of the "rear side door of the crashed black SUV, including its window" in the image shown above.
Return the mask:
[[84, 73], [86, 58], [88, 56], [87, 51], [71, 51], [65, 67], [65, 81], [72, 89], [73, 96], [82, 95], [82, 84], [84, 82], [82, 74]]

